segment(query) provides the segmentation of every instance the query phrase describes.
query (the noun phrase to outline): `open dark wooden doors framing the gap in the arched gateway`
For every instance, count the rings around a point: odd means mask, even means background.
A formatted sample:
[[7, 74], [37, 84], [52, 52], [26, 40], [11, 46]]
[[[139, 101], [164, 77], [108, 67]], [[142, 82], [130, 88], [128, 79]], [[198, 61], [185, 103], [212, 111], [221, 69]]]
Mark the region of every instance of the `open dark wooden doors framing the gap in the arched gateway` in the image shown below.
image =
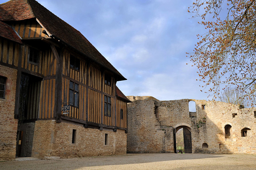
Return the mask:
[[192, 153], [192, 138], [191, 138], [191, 128], [185, 125], [181, 125], [175, 127], [174, 133], [174, 152], [177, 153], [176, 150], [176, 133], [178, 130], [183, 128], [183, 138], [184, 138], [184, 151], [185, 153]]

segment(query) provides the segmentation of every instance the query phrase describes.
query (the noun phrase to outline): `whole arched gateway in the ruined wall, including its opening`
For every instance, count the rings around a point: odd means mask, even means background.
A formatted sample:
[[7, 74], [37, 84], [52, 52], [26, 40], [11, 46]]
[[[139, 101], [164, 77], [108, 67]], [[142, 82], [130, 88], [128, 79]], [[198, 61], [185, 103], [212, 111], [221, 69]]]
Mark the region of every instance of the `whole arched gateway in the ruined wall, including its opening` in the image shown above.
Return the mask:
[[192, 153], [192, 137], [190, 127], [179, 126], [174, 129], [174, 152], [177, 153], [177, 151], [180, 152], [180, 150], [185, 153]]

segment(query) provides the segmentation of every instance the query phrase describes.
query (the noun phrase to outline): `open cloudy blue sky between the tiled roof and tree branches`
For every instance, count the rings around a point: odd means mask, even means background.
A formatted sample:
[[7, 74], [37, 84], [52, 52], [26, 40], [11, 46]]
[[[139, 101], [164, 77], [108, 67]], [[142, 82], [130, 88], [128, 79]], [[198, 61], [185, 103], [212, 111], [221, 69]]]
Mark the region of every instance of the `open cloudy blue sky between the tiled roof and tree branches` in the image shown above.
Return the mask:
[[127, 78], [117, 82], [126, 96], [212, 99], [200, 92], [197, 68], [186, 57], [196, 35], [206, 31], [188, 12], [193, 0], [37, 1], [80, 31]]

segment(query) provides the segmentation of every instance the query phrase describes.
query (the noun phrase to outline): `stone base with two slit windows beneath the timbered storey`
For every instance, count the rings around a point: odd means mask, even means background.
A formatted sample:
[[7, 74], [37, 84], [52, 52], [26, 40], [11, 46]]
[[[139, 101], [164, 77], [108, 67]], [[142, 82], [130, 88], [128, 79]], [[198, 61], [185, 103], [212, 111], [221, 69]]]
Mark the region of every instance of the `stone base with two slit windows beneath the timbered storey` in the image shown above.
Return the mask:
[[[73, 129], [76, 130], [72, 143]], [[107, 141], [105, 145], [105, 137]], [[117, 129], [91, 129], [69, 121], [36, 121], [32, 156], [60, 156], [61, 158], [126, 154], [126, 133]]]

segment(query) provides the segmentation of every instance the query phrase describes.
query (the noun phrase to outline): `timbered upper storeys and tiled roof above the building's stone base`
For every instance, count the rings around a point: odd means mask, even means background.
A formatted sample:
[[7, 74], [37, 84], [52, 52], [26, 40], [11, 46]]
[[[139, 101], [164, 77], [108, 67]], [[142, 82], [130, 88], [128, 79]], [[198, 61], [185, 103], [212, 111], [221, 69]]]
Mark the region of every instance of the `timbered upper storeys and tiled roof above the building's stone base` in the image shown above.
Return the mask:
[[[21, 6], [29, 8], [24, 10]], [[6, 28], [6, 32], [0, 34], [0, 66], [17, 70], [15, 119], [22, 119], [22, 122], [55, 119], [57, 123], [65, 119], [82, 123], [85, 128], [127, 132], [127, 103], [130, 100], [116, 87], [117, 81], [126, 78], [79, 31], [35, 0], [10, 0], [0, 7], [0, 24]], [[16, 12], [20, 16], [15, 15]], [[37, 63], [30, 61], [32, 48], [38, 51]], [[70, 67], [71, 57], [80, 61], [79, 69]], [[26, 104], [37, 102], [36, 107], [31, 108], [35, 115], [20, 113], [23, 100], [20, 86], [26, 76], [29, 87], [34, 89], [26, 97]], [[104, 83], [106, 77], [111, 84]], [[70, 93], [69, 84], [73, 82], [78, 94]], [[111, 116], [104, 115], [104, 96], [110, 98]], [[34, 103], [30, 97], [34, 98]], [[70, 111], [64, 113], [62, 101], [69, 103], [69, 100], [78, 106], [70, 105]], [[120, 110], [124, 114], [122, 119]]]

